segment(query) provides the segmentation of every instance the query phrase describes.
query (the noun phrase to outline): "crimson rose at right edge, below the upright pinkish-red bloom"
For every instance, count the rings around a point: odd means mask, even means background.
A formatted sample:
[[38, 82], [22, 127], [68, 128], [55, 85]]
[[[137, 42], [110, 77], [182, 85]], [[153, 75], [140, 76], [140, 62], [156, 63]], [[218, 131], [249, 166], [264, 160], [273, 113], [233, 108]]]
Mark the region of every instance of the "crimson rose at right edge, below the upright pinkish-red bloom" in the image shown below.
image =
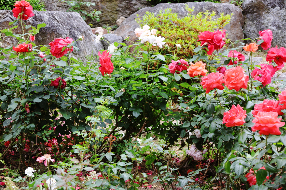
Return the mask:
[[286, 48], [284, 47], [279, 49], [277, 46], [275, 48], [270, 48], [267, 53], [266, 61], [268, 62], [274, 60], [277, 65], [283, 65], [284, 62], [286, 62]]

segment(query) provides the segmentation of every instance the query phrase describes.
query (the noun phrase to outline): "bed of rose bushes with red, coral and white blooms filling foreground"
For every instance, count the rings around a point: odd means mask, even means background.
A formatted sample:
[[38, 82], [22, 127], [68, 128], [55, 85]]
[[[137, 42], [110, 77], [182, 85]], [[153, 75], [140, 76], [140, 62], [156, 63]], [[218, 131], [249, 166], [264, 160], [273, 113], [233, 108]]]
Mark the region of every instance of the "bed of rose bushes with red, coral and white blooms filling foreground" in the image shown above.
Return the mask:
[[[110, 44], [99, 62], [83, 63], [71, 55], [84, 37], [34, 44], [46, 24], [23, 25], [34, 16], [27, 1], [16, 1], [13, 15], [0, 33], [1, 42], [18, 40], [0, 49], [5, 189], [285, 189], [286, 90], [273, 76], [286, 49], [271, 48], [271, 30], [244, 39], [250, 44], [206, 30], [182, 59], [179, 44], [172, 54], [153, 49], [167, 40], [144, 25], [138, 42]], [[258, 47], [267, 64], [253, 62]]]

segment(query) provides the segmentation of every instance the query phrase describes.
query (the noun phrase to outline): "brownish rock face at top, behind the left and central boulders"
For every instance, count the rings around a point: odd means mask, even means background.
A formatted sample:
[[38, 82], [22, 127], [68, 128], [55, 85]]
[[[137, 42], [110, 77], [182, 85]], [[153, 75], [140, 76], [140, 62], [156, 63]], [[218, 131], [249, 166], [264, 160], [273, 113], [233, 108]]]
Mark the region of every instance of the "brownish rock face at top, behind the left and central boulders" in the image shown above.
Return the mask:
[[[67, 11], [70, 6], [60, 0], [42, 0], [47, 11]], [[151, 6], [150, 1], [146, 0], [88, 0], [95, 3], [95, 6], [82, 6], [86, 12], [91, 12], [94, 9], [101, 11], [99, 14], [100, 21], [89, 20], [88, 23], [93, 24], [93, 27], [112, 26], [116, 25], [117, 19], [129, 17], [134, 12], [147, 6]]]

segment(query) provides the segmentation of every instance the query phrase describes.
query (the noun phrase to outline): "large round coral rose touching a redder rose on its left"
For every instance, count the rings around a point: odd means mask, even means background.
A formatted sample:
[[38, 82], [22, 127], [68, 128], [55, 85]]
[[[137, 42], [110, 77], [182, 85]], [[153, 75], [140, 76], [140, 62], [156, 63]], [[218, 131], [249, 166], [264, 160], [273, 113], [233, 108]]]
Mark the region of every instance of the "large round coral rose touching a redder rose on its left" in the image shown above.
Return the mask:
[[224, 79], [224, 86], [226, 86], [229, 90], [234, 89], [238, 92], [240, 89], [247, 88], [249, 77], [244, 74], [244, 69], [242, 69], [241, 66], [237, 66], [227, 69], [224, 73]]

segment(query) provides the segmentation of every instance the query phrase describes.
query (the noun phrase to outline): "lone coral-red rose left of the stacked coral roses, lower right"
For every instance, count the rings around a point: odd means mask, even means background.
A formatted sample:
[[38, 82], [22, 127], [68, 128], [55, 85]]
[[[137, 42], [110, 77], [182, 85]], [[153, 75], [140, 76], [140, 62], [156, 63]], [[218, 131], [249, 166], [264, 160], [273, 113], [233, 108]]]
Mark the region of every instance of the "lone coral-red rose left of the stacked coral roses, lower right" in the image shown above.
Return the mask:
[[245, 123], [244, 118], [246, 118], [246, 111], [239, 104], [237, 104], [237, 107], [232, 105], [232, 109], [224, 112], [222, 123], [225, 123], [226, 127], [240, 126]]

